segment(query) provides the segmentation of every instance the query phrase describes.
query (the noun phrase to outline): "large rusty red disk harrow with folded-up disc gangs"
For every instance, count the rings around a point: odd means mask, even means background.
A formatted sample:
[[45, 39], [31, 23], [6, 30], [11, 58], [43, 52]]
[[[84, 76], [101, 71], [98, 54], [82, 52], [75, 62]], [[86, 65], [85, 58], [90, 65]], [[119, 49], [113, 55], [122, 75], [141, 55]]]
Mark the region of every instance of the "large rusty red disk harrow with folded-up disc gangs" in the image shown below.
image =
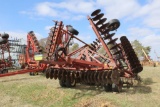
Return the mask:
[[[76, 83], [81, 83], [120, 92], [123, 84], [132, 86], [133, 80], [139, 79], [138, 73], [143, 67], [127, 37], [120, 37], [120, 43], [117, 43], [118, 38], [114, 38], [120, 26], [119, 20], [106, 22], [107, 18], [100, 9], [87, 19], [97, 37], [89, 44], [76, 36], [79, 33], [76, 29], [71, 25], [65, 26], [62, 21], [54, 21], [43, 51], [35, 34], [29, 32], [25, 69], [44, 71], [47, 79], [58, 79], [62, 87], [75, 87]], [[73, 39], [84, 45], [70, 52]], [[101, 48], [105, 53], [99, 53]], [[43, 54], [43, 59], [36, 61], [34, 56], [37, 53]]]

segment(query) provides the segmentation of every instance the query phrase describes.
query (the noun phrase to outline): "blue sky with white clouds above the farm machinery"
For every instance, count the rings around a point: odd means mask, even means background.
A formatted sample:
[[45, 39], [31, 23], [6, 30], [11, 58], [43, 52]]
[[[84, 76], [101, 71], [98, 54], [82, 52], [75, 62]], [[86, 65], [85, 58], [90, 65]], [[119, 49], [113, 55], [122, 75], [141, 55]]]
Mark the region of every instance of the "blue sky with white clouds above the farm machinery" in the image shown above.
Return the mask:
[[87, 15], [101, 9], [107, 21], [121, 23], [114, 38], [127, 36], [151, 46], [150, 56], [160, 56], [160, 0], [0, 0], [0, 33], [23, 38], [34, 31], [37, 38], [48, 37], [53, 20], [63, 21], [79, 31], [78, 37], [92, 43], [96, 36]]

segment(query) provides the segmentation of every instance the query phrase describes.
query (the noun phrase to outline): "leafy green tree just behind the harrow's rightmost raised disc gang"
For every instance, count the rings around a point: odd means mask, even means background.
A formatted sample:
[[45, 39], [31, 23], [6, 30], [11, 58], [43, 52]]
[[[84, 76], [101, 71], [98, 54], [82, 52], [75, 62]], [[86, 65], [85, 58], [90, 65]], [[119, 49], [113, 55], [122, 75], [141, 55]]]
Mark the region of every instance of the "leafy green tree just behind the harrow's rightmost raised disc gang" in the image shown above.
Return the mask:
[[151, 47], [150, 46], [143, 46], [142, 43], [140, 43], [138, 40], [134, 40], [133, 42], [131, 42], [133, 49], [135, 50], [137, 56], [139, 59], [145, 58], [145, 55], [142, 51], [142, 49], [146, 52], [146, 54], [149, 56], [149, 53], [151, 51]]

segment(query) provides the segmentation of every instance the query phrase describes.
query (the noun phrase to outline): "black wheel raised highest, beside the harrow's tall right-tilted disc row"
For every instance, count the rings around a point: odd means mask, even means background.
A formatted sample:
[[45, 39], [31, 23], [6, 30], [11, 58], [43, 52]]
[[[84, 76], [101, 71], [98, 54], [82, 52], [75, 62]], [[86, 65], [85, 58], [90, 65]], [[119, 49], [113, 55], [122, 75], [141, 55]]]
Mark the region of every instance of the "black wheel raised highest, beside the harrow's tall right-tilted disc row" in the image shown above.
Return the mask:
[[118, 19], [112, 19], [108, 22], [108, 28], [111, 29], [111, 31], [118, 29], [120, 26], [120, 22]]

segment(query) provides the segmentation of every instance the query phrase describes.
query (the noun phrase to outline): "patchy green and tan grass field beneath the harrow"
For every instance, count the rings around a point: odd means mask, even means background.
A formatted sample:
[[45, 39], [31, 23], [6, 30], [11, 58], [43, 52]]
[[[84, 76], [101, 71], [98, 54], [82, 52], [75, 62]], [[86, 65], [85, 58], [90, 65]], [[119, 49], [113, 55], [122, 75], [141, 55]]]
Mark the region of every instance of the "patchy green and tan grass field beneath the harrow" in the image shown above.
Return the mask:
[[141, 85], [121, 93], [28, 74], [0, 78], [0, 107], [160, 107], [160, 67], [144, 67]]

